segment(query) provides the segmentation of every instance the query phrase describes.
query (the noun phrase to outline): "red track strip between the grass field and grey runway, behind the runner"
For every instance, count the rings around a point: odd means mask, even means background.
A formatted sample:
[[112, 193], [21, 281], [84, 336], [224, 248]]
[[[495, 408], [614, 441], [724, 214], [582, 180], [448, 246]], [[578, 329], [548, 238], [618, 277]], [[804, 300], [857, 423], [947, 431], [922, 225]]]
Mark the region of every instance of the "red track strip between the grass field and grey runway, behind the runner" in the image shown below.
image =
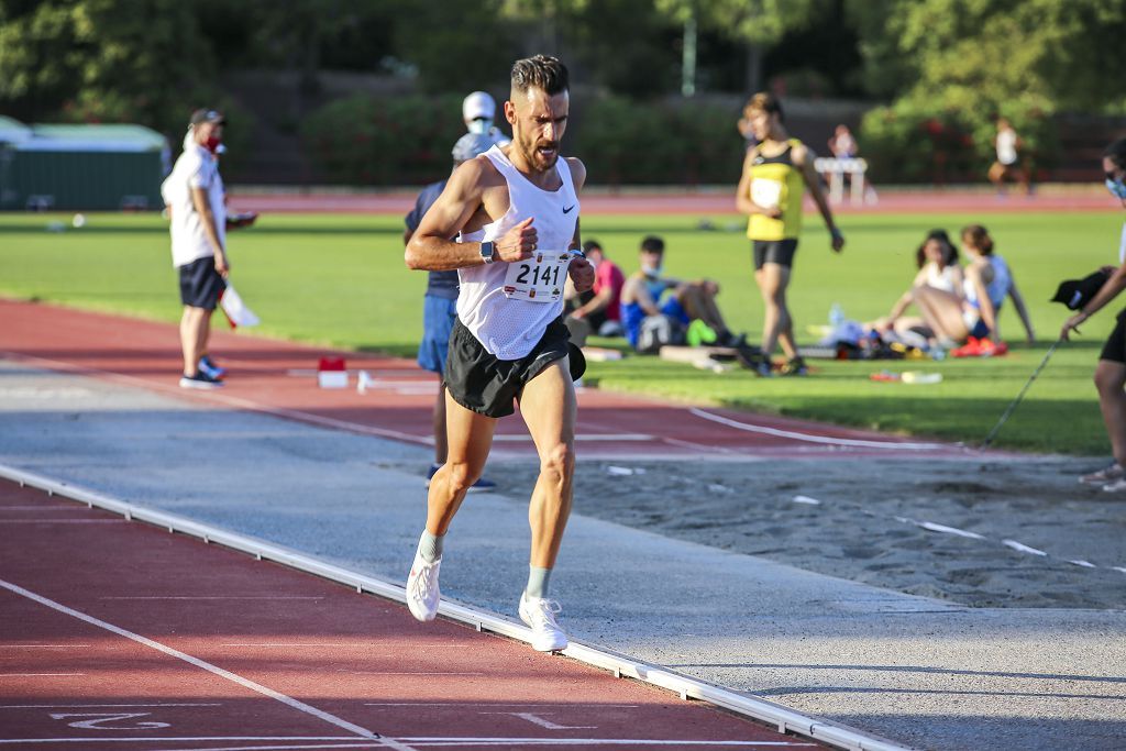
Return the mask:
[[[53, 305], [0, 301], [0, 357], [33, 367], [100, 375], [128, 385], [215, 406], [245, 409], [330, 428], [432, 445], [431, 408], [437, 378], [413, 360], [355, 352], [352, 370], [374, 384], [316, 386], [314, 369], [324, 349], [242, 337], [216, 323], [212, 350], [231, 368], [226, 387], [214, 392], [178, 386], [181, 368], [176, 327]], [[953, 445], [914, 441], [816, 422], [627, 396], [597, 388], [579, 397], [577, 441], [588, 458], [803, 458], [810, 456], [963, 456]], [[501, 420], [493, 456], [535, 453], [524, 422]]]

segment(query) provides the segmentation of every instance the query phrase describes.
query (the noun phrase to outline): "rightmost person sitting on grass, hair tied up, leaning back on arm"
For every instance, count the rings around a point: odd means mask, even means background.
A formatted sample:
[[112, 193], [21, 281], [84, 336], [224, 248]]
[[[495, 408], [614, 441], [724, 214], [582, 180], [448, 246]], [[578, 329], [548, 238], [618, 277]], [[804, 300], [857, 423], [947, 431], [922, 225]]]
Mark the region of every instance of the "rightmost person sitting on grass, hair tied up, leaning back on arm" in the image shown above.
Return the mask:
[[1020, 296], [1009, 265], [993, 252], [993, 239], [989, 231], [980, 224], [965, 227], [962, 231], [962, 249], [969, 258], [962, 295], [935, 287], [914, 290], [914, 303], [939, 343], [953, 346], [965, 342], [964, 347], [953, 352], [962, 357], [1004, 354], [1008, 348], [1001, 340], [998, 313], [1006, 297], [1012, 297], [1028, 341], [1034, 342], [1036, 333], [1025, 298]]

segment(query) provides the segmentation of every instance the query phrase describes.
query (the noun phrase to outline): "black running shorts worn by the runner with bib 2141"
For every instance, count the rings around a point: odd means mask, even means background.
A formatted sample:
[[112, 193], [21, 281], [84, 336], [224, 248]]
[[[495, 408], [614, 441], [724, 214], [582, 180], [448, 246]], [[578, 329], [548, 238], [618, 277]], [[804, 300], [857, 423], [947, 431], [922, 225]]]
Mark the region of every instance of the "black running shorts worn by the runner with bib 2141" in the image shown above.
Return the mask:
[[547, 324], [543, 338], [527, 356], [501, 360], [485, 351], [458, 319], [449, 334], [446, 388], [455, 402], [479, 414], [490, 418], [512, 414], [524, 384], [569, 355], [569, 339], [563, 319], [558, 318]]

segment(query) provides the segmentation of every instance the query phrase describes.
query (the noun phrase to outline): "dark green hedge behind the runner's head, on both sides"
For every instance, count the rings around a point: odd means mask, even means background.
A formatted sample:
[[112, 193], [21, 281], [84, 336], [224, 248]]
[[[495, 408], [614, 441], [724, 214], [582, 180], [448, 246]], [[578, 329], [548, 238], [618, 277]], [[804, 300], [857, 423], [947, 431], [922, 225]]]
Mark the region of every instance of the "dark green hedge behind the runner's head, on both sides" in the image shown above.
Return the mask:
[[[320, 180], [357, 186], [419, 185], [449, 171], [464, 133], [461, 97], [356, 96], [310, 117], [302, 137]], [[738, 113], [707, 102], [577, 99], [565, 152], [579, 154], [597, 185], [733, 184], [743, 144]]]

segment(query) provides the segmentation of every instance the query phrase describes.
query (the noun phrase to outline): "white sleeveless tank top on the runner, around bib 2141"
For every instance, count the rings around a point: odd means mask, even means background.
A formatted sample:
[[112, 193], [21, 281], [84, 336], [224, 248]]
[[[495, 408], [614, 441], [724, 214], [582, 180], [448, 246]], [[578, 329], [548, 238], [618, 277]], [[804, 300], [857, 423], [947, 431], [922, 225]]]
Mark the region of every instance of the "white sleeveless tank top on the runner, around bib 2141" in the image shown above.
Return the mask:
[[[570, 248], [579, 221], [579, 198], [566, 160], [560, 157], [555, 161], [563, 185], [552, 193], [528, 181], [500, 146], [486, 151], [485, 157], [508, 181], [508, 212], [476, 232], [462, 233], [458, 242], [495, 240], [531, 216], [535, 217], [531, 226], [536, 227], [537, 248]], [[498, 261], [457, 269], [461, 283], [457, 318], [490, 355], [501, 360], [518, 360], [535, 348], [547, 324], [563, 313], [563, 301], [535, 303], [509, 299], [503, 290], [508, 266]]]

